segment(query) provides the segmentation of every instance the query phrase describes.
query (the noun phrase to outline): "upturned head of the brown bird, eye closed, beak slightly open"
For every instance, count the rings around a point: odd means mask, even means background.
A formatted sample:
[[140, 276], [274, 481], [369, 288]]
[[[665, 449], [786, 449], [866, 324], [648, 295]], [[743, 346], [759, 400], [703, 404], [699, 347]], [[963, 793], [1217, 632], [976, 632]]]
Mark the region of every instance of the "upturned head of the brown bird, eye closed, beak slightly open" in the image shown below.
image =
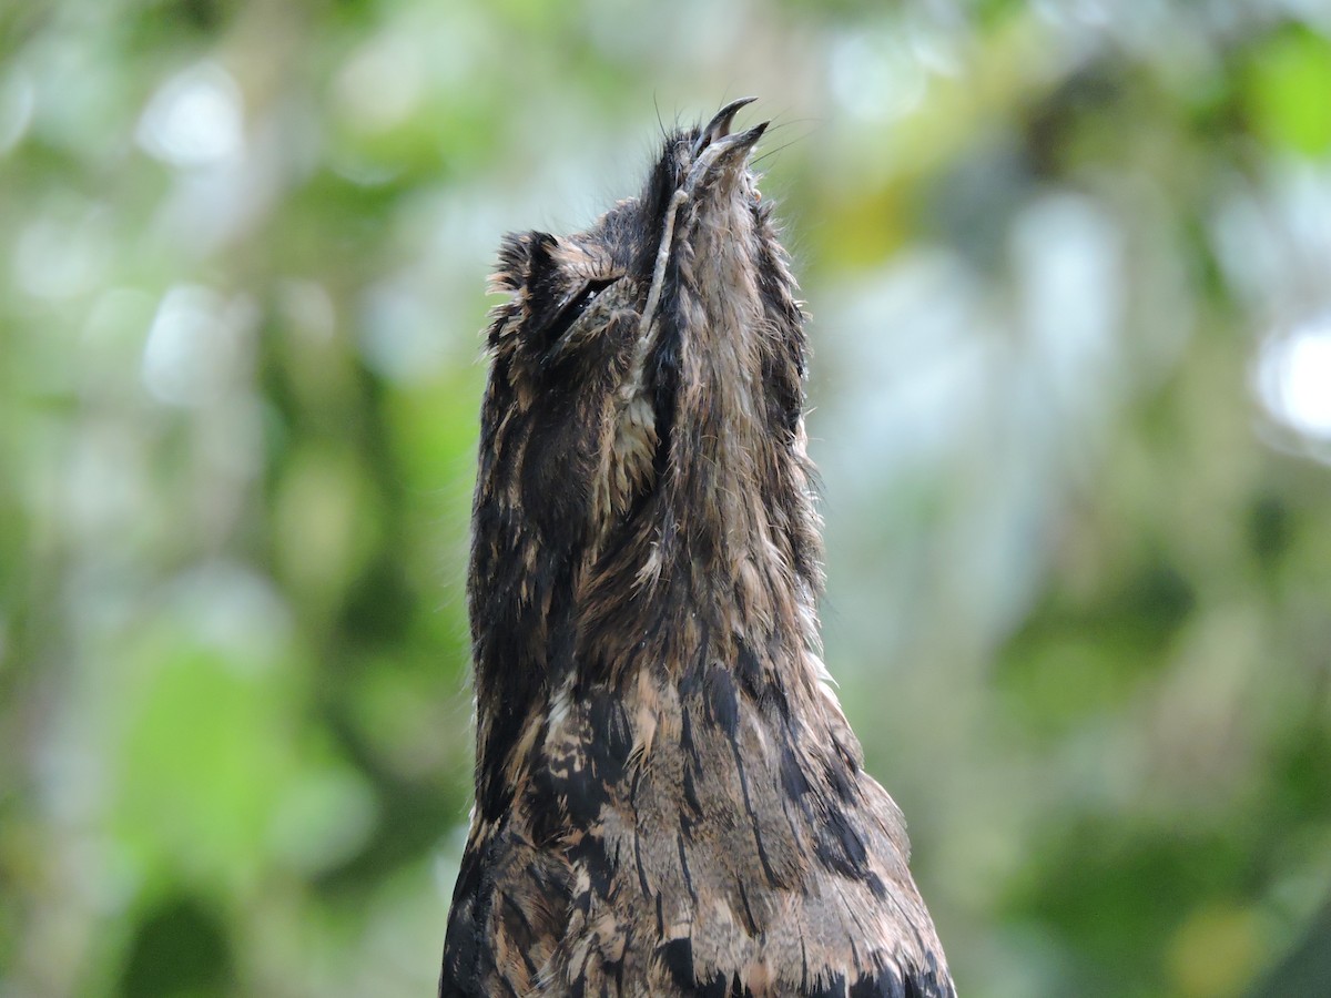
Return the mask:
[[800, 432], [803, 315], [749, 166], [767, 122], [731, 132], [751, 100], [669, 136], [642, 196], [586, 232], [506, 237], [491, 278], [510, 299], [487, 337], [479, 494], [591, 555], [663, 499], [642, 582], [705, 556], [707, 535], [724, 548], [743, 526], [724, 507], [753, 499], [724, 490], [769, 487]]

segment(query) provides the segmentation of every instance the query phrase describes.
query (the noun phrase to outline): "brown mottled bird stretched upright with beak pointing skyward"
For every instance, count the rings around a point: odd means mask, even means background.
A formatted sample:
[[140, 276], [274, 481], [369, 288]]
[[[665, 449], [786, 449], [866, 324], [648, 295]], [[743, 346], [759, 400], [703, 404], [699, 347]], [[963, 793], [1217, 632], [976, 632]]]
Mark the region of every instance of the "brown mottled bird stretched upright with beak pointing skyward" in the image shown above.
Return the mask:
[[467, 576], [475, 804], [439, 995], [956, 994], [821, 661], [804, 305], [745, 97], [510, 233]]

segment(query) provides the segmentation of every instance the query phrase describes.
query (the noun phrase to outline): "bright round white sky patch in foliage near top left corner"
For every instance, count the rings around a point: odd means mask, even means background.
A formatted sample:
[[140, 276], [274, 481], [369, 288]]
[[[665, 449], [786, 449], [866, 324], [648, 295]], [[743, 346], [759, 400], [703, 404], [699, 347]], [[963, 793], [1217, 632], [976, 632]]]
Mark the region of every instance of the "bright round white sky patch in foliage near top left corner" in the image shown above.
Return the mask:
[[193, 65], [157, 89], [134, 137], [149, 156], [172, 166], [229, 160], [245, 145], [241, 89], [216, 63]]

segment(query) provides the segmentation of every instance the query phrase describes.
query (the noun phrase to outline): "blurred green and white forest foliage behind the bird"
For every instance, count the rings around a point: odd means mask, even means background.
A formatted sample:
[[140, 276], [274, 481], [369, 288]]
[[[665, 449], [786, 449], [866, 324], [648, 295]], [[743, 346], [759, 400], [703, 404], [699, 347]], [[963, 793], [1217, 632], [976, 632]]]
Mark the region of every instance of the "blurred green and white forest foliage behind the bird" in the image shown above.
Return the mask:
[[0, 994], [430, 993], [484, 274], [740, 92], [962, 993], [1331, 994], [1296, 0], [0, 8]]

